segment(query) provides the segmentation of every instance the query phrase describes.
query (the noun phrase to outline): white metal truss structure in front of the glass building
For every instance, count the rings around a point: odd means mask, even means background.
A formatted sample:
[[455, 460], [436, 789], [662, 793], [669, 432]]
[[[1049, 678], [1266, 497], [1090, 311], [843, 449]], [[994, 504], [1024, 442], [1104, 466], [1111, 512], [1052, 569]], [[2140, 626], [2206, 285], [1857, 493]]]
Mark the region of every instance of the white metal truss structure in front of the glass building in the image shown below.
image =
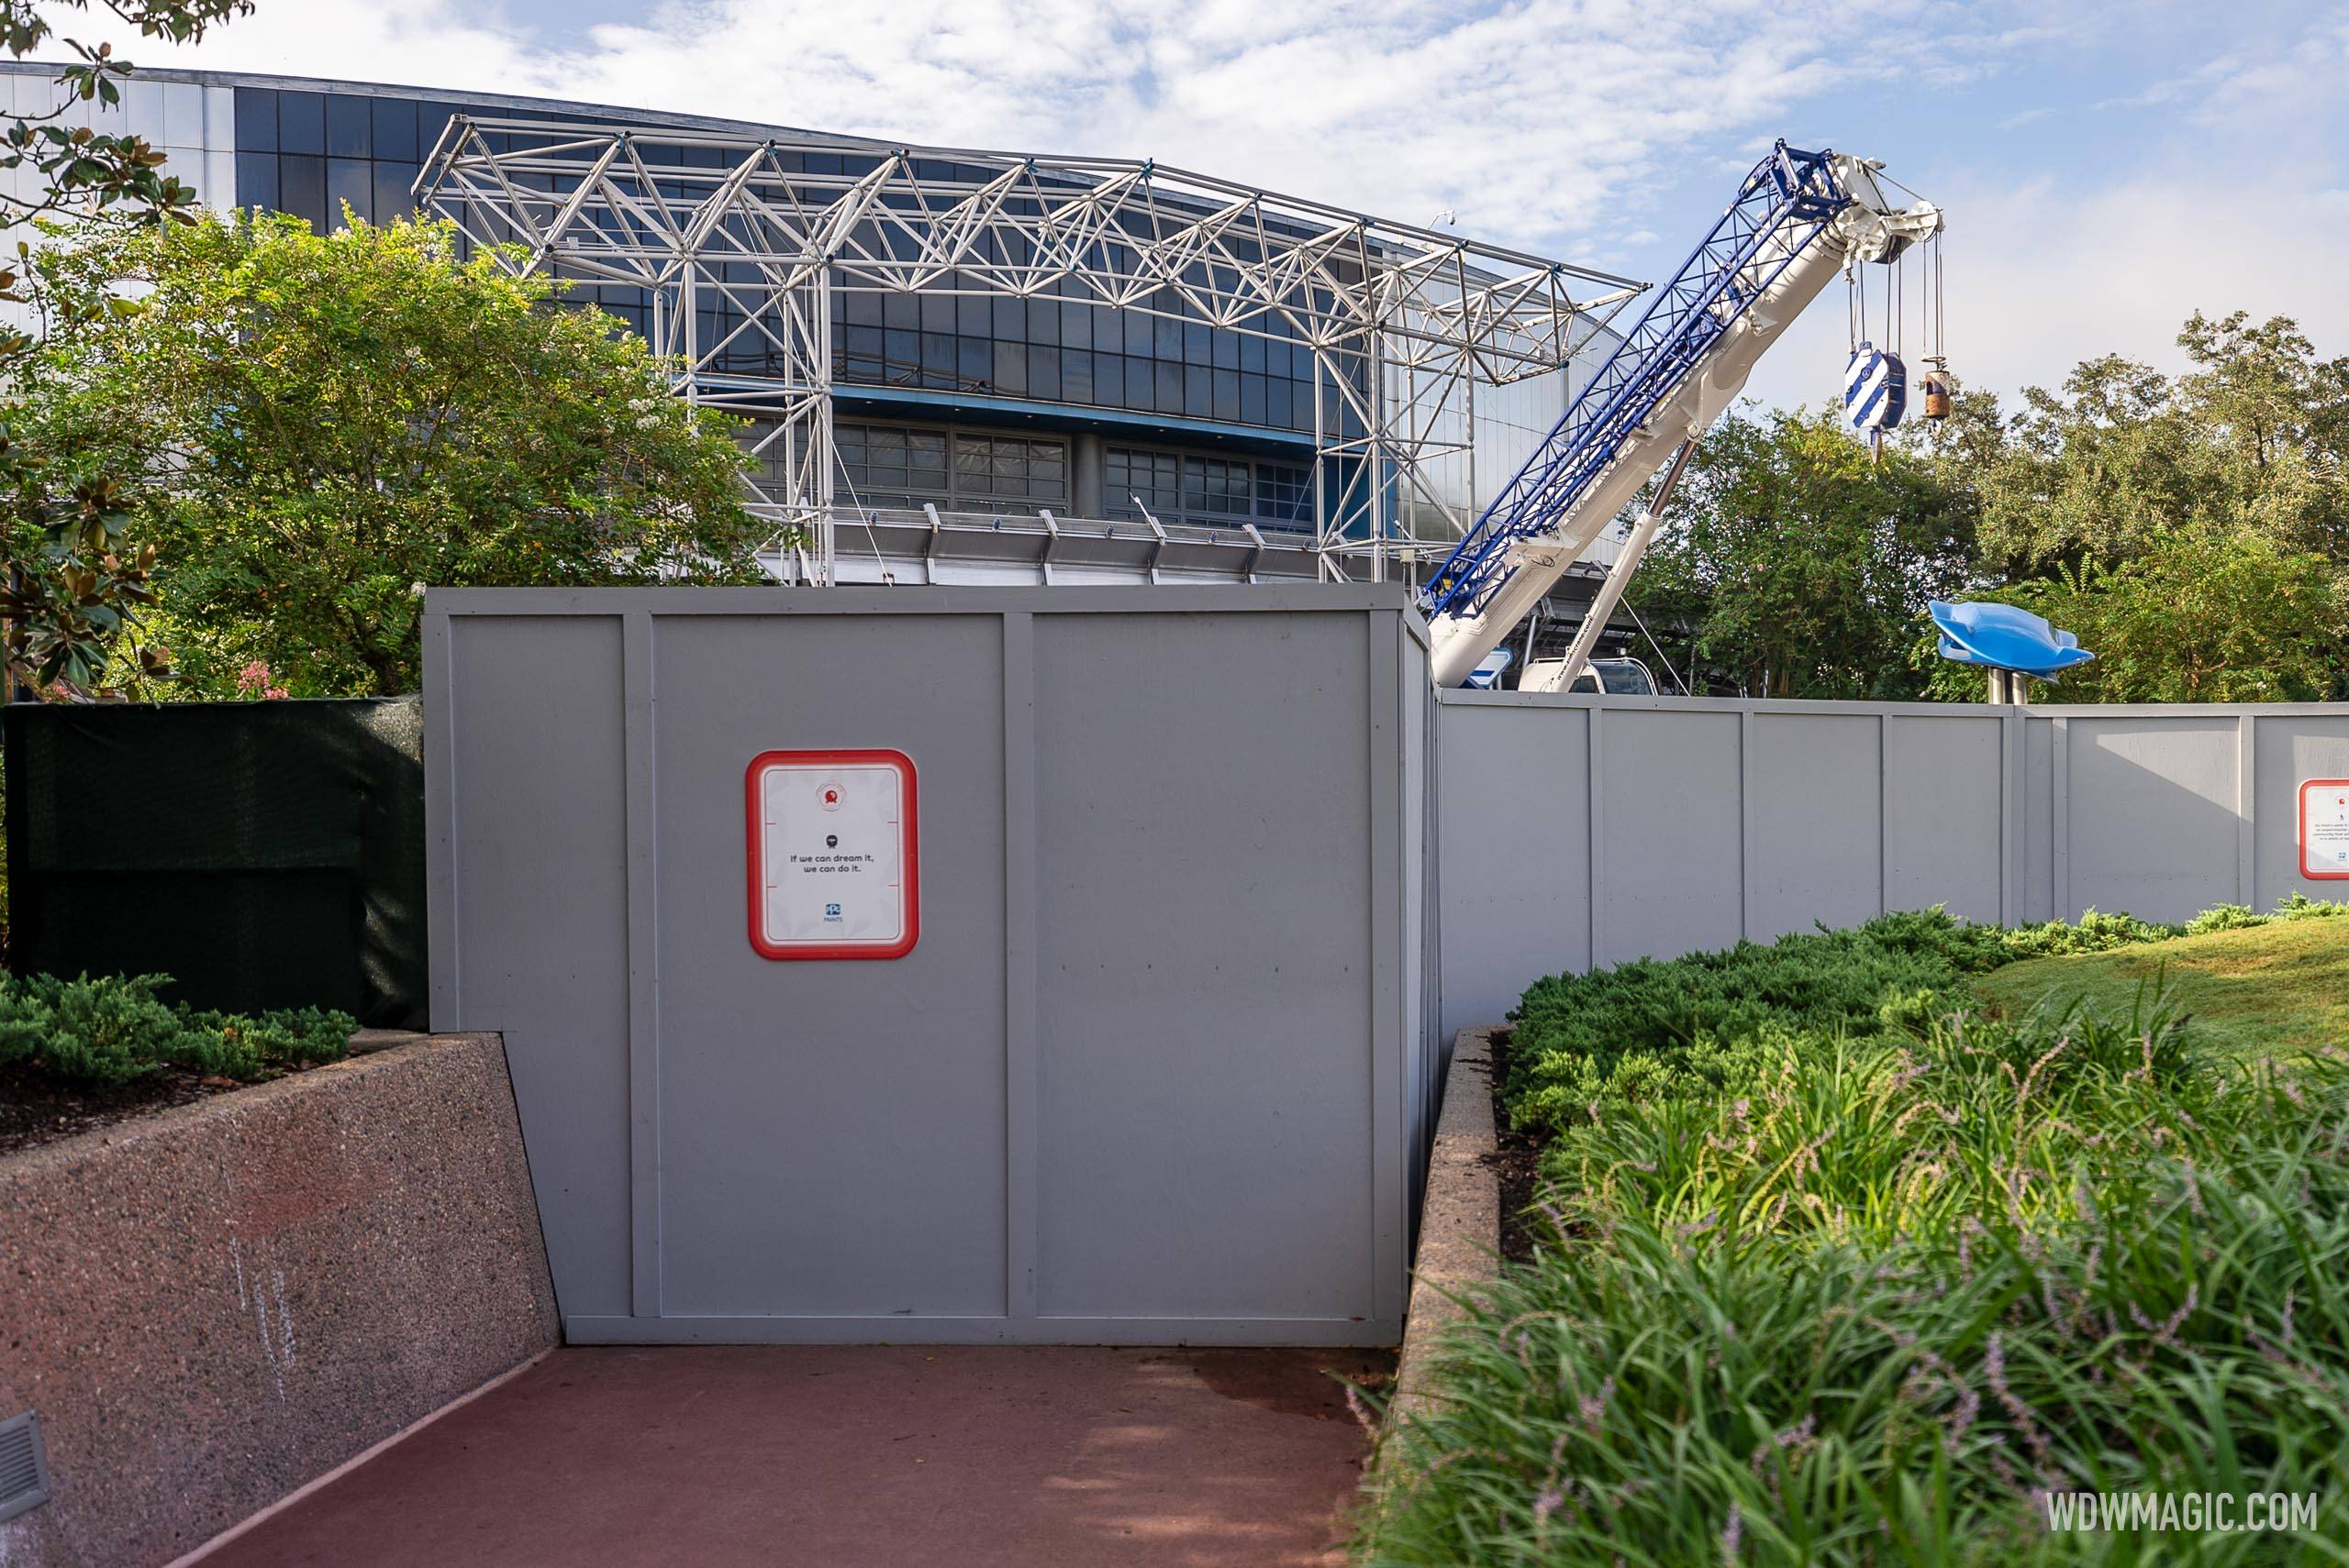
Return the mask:
[[416, 192], [521, 272], [644, 289], [677, 390], [759, 423], [761, 512], [822, 582], [843, 293], [1071, 298], [1073, 282], [1097, 305], [1306, 343], [1322, 573], [1379, 580], [1473, 521], [1431, 481], [1470, 439], [1447, 408], [1564, 366], [1576, 319], [1642, 289], [1111, 157], [458, 115]]

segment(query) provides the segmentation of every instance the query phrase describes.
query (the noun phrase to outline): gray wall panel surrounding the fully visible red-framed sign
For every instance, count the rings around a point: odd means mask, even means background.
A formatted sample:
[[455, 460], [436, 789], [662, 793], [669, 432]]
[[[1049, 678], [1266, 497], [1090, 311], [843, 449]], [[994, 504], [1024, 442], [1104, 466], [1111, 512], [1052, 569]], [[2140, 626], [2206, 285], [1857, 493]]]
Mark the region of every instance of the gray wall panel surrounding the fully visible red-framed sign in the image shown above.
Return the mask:
[[[1001, 622], [648, 615], [646, 627], [662, 1314], [775, 1303], [848, 1317], [1001, 1312]], [[778, 643], [794, 669], [855, 678], [714, 678], [778, 669]], [[775, 962], [752, 951], [742, 770], [768, 749], [752, 737], [914, 756], [911, 953]]]

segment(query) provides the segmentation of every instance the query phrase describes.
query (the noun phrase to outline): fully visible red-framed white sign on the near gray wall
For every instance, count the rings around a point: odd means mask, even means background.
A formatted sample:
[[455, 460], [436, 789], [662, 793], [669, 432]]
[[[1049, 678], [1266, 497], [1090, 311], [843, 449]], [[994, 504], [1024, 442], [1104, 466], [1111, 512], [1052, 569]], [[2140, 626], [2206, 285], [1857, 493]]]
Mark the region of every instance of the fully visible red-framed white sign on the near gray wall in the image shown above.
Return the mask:
[[749, 946], [904, 958], [921, 939], [921, 817], [904, 751], [761, 751], [742, 775]]

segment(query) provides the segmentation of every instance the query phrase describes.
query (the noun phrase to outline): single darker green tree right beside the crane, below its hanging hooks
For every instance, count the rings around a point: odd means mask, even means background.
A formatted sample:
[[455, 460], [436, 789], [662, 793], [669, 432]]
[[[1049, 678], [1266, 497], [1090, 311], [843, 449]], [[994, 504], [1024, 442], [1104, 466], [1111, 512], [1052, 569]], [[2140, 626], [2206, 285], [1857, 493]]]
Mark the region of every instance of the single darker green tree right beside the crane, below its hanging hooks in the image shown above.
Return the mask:
[[1973, 512], [1835, 413], [1734, 411], [1698, 441], [1633, 596], [1755, 697], [1900, 697], [1924, 603], [1968, 575]]

